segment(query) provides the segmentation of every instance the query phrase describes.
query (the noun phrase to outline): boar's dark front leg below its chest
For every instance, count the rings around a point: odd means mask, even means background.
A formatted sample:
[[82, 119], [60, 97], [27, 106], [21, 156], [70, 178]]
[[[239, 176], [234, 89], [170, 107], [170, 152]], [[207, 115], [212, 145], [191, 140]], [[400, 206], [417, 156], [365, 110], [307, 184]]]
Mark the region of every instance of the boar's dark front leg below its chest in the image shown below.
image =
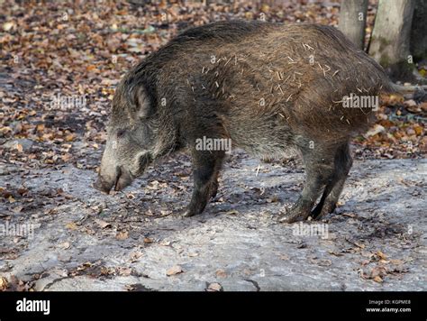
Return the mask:
[[218, 190], [218, 173], [223, 164], [224, 151], [194, 151], [193, 177], [195, 189], [183, 216], [195, 216], [203, 212], [211, 197]]

